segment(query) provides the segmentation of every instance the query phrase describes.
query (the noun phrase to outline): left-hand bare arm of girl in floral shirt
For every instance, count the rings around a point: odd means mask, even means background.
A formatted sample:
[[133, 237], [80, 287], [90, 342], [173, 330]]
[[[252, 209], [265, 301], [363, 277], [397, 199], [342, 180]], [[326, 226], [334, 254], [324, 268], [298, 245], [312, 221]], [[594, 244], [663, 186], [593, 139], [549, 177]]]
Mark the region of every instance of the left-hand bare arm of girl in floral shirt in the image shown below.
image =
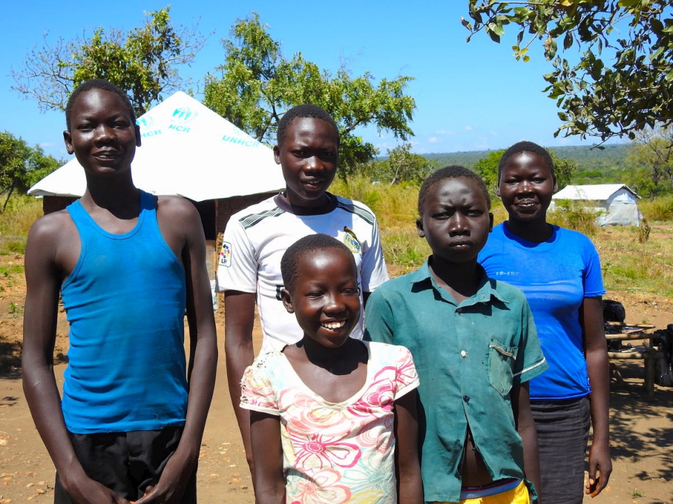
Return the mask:
[[252, 456], [255, 460], [255, 503], [285, 503], [280, 418], [249, 411]]

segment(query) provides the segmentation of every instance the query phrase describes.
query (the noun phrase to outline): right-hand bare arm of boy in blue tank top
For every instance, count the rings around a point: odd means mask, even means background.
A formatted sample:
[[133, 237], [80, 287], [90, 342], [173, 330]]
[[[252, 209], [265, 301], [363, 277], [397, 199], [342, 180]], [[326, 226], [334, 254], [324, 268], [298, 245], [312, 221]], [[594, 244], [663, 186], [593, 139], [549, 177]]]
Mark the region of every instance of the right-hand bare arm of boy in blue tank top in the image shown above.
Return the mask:
[[[160, 206], [160, 210], [164, 208]], [[180, 257], [183, 260], [187, 281], [189, 399], [185, 427], [178, 449], [166, 464], [159, 482], [148, 489], [146, 496], [137, 501], [139, 504], [180, 501], [199, 460], [201, 439], [203, 429], [206, 427], [217, 368], [217, 333], [215, 317], [212, 314], [210, 280], [206, 269], [206, 239], [203, 236], [201, 219], [193, 205], [186, 200], [173, 198], [168, 210], [167, 216], [176, 226], [173, 230], [174, 236], [184, 238]], [[171, 233], [171, 228], [164, 226], [164, 219], [162, 216], [160, 221], [162, 233], [164, 230]]]

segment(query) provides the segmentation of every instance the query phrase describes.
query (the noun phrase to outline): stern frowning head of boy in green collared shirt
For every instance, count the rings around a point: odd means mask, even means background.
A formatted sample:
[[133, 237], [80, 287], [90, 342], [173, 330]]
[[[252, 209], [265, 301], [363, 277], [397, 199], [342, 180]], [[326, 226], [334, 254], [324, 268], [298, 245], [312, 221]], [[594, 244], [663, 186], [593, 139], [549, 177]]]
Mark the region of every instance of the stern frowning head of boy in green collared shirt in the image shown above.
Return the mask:
[[416, 221], [433, 258], [447, 262], [476, 260], [493, 228], [493, 214], [481, 189], [464, 177], [435, 182], [425, 198], [423, 216]]

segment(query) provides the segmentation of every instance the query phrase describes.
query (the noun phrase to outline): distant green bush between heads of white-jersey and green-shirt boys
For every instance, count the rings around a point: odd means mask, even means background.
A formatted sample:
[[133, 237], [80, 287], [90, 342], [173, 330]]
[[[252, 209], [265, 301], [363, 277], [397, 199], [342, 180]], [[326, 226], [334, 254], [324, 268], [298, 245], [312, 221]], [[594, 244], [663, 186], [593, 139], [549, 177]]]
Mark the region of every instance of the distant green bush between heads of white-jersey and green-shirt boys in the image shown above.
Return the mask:
[[362, 168], [362, 171], [371, 180], [387, 182], [390, 185], [402, 182], [420, 185], [436, 166], [425, 157], [413, 154], [410, 150], [410, 143], [388, 149], [387, 159], [369, 162]]

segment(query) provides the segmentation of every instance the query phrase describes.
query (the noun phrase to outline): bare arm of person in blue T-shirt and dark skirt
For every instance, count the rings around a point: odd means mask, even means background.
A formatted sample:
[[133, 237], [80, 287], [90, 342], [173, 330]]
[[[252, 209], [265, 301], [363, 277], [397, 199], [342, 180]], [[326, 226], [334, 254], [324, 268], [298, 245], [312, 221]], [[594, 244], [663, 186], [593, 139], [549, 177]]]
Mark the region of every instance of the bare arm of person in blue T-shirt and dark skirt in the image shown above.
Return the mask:
[[586, 494], [595, 497], [610, 480], [610, 371], [608, 367], [608, 342], [603, 329], [601, 297], [585, 297], [580, 308], [580, 324], [584, 330], [587, 372], [591, 393], [591, 429], [593, 436], [589, 448], [589, 482]]

